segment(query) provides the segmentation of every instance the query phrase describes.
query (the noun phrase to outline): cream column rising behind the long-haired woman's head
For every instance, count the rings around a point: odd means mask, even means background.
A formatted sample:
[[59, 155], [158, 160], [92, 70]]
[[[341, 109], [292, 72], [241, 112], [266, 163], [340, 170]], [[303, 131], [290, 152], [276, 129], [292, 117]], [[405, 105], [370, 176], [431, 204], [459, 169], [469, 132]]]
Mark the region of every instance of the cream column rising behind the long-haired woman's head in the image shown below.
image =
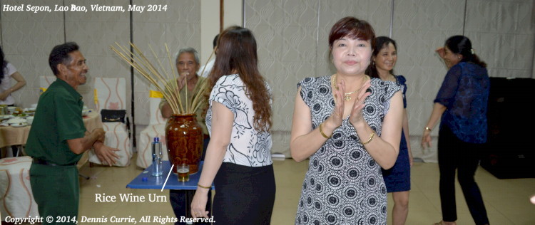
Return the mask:
[[[200, 64], [204, 65], [213, 50], [213, 38], [219, 33], [219, 3], [218, 0], [200, 1]], [[224, 28], [228, 26], [243, 26], [242, 0], [225, 0]]]

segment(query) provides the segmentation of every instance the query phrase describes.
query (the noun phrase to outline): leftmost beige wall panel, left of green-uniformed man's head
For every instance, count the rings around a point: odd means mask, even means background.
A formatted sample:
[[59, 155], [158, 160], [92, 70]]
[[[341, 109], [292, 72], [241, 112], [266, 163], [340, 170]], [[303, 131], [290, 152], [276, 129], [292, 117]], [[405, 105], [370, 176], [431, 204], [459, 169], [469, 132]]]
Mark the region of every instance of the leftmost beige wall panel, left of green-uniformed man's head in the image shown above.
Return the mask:
[[[28, 4], [34, 6], [51, 6], [62, 1], [2, 1], [3, 5]], [[39, 100], [39, 76], [54, 75], [49, 67], [48, 58], [51, 49], [63, 42], [63, 14], [34, 13], [33, 11], [1, 11], [2, 49], [6, 60], [12, 63], [26, 79], [26, 86], [12, 95], [15, 104], [30, 107]], [[11, 79], [13, 85], [16, 81]]]

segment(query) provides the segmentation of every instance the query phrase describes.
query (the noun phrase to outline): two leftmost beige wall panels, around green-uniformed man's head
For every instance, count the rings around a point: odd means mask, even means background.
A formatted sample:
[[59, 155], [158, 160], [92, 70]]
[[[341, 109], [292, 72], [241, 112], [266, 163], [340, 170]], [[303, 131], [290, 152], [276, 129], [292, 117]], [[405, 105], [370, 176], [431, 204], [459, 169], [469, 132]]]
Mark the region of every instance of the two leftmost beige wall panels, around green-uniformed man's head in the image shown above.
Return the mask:
[[[85, 5], [83, 1], [6, 1], [2, 5], [31, 4], [35, 6]], [[126, 6], [128, 1], [109, 1], [108, 4]], [[54, 75], [48, 64], [51, 49], [64, 41], [76, 41], [89, 66], [88, 82], [78, 92], [89, 108], [95, 108], [93, 101], [94, 78], [126, 78], [130, 83], [130, 70], [113, 55], [109, 46], [114, 41], [128, 43], [130, 40], [130, 19], [128, 13], [78, 11], [1, 11], [2, 48], [6, 59], [13, 63], [27, 81], [26, 86], [14, 93], [16, 104], [29, 107], [39, 99], [39, 77]], [[131, 88], [127, 88], [127, 96]], [[127, 103], [130, 109], [131, 103]]]

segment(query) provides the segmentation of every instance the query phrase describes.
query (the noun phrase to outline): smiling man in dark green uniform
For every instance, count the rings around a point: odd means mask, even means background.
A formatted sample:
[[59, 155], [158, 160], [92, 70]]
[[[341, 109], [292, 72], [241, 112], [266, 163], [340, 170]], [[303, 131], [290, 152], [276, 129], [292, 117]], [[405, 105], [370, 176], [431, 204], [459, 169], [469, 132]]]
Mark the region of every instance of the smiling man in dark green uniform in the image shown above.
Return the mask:
[[[117, 151], [103, 145], [104, 130], [86, 131], [82, 120], [82, 96], [78, 85], [86, 83], [86, 58], [74, 42], [55, 46], [49, 65], [57, 80], [39, 98], [26, 152], [34, 158], [30, 183], [39, 214], [45, 223], [59, 216], [74, 224], [78, 216], [78, 168], [82, 153], [94, 147], [102, 162], [113, 164]], [[52, 216], [54, 221], [48, 221]]]

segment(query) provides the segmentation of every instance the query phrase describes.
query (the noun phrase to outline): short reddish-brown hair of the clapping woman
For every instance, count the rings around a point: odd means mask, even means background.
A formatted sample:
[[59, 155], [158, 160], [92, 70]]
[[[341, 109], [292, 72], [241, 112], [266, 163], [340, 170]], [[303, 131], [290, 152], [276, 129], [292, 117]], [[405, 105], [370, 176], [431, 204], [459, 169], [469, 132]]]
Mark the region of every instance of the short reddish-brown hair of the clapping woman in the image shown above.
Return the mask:
[[329, 48], [332, 48], [332, 43], [344, 37], [370, 41], [372, 46], [375, 42], [375, 31], [370, 23], [365, 20], [357, 19], [352, 16], [347, 16], [335, 23], [329, 33]]

